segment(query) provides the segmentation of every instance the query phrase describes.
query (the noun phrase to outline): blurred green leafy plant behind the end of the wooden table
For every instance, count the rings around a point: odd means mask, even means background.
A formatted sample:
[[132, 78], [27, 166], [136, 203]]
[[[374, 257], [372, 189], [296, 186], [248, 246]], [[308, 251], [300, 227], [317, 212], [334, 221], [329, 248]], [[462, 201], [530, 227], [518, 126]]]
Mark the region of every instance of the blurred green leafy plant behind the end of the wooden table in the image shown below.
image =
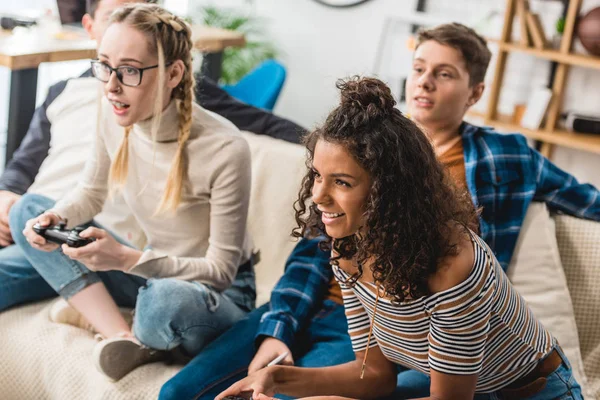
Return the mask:
[[193, 23], [243, 32], [246, 46], [227, 48], [223, 52], [223, 70], [219, 83], [234, 84], [264, 60], [279, 54], [275, 45], [267, 39], [263, 18], [243, 11], [212, 5], [197, 8], [191, 15]]

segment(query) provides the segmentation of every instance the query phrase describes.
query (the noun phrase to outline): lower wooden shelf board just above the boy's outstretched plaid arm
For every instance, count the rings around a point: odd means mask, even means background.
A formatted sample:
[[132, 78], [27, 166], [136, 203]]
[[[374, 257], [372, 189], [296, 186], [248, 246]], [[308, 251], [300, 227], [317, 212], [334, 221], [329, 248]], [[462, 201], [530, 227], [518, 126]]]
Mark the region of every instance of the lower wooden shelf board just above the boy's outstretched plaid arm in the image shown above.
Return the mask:
[[502, 131], [522, 133], [531, 139], [541, 140], [545, 143], [600, 154], [600, 135], [568, 132], [565, 130], [554, 130], [550, 132], [527, 129], [518, 124], [499, 120], [486, 120], [485, 123]]

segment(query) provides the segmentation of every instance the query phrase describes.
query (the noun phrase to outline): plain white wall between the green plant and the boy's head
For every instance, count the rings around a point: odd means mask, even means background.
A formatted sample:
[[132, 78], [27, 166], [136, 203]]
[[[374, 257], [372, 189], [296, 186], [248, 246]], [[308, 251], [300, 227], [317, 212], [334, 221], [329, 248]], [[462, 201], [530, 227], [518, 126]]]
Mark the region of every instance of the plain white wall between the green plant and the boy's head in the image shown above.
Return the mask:
[[[200, 4], [244, 5], [242, 0], [192, 0]], [[250, 9], [267, 19], [271, 38], [282, 50], [288, 79], [278, 114], [311, 127], [336, 103], [335, 80], [372, 73], [384, 19], [414, 8], [414, 0], [377, 0], [353, 9], [331, 9], [310, 0], [255, 0]]]

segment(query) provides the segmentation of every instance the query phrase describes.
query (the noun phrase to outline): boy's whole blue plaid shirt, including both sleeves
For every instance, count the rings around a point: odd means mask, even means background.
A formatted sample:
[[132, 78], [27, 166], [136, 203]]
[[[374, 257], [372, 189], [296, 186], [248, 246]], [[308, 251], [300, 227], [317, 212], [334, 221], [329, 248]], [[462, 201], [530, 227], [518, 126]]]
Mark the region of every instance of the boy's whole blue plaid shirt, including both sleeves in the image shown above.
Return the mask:
[[[519, 134], [463, 123], [465, 174], [473, 202], [482, 207], [481, 237], [506, 270], [532, 201], [553, 211], [600, 221], [600, 192], [556, 167]], [[332, 271], [318, 239], [301, 240], [271, 294], [257, 339], [275, 337], [291, 347], [327, 294]]]

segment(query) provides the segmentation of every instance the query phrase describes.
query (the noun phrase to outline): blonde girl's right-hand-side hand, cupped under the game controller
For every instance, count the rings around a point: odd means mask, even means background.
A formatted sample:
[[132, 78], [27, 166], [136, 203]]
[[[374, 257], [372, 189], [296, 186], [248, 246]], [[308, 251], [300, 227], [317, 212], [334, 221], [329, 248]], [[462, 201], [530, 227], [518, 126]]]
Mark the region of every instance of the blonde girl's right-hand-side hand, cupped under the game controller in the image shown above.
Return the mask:
[[82, 238], [95, 238], [92, 243], [83, 247], [62, 245], [63, 253], [73, 260], [79, 261], [92, 271], [127, 271], [142, 256], [142, 252], [127, 247], [115, 240], [104, 229], [89, 227], [79, 233]]

